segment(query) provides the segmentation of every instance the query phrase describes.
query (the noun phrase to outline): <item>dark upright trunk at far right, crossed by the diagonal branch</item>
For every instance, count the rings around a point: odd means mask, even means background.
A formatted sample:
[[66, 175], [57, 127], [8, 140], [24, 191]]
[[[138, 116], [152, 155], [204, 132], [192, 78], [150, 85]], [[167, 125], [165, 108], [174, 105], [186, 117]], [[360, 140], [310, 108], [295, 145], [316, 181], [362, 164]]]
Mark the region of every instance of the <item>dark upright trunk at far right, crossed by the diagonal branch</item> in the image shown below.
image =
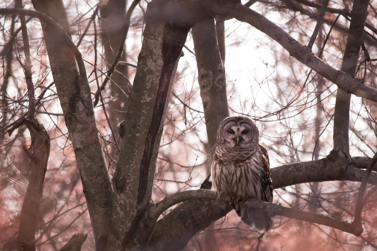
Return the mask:
[[[369, 0], [355, 0], [352, 5], [351, 22], [340, 70], [355, 76], [359, 52], [363, 41], [364, 26], [368, 15]], [[334, 111], [334, 149], [340, 148], [349, 154], [349, 104], [351, 94], [338, 88]]]

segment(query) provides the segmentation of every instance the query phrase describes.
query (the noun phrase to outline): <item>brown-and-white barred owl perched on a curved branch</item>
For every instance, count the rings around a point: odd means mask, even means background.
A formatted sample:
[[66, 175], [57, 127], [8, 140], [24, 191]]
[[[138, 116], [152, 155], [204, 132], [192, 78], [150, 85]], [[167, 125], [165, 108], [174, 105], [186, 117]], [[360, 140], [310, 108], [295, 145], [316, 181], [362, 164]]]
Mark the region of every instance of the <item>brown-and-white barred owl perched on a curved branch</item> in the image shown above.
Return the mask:
[[211, 175], [217, 198], [229, 199], [243, 222], [261, 233], [273, 230], [266, 211], [242, 205], [249, 198], [272, 202], [270, 163], [254, 120], [232, 116], [220, 123]]

